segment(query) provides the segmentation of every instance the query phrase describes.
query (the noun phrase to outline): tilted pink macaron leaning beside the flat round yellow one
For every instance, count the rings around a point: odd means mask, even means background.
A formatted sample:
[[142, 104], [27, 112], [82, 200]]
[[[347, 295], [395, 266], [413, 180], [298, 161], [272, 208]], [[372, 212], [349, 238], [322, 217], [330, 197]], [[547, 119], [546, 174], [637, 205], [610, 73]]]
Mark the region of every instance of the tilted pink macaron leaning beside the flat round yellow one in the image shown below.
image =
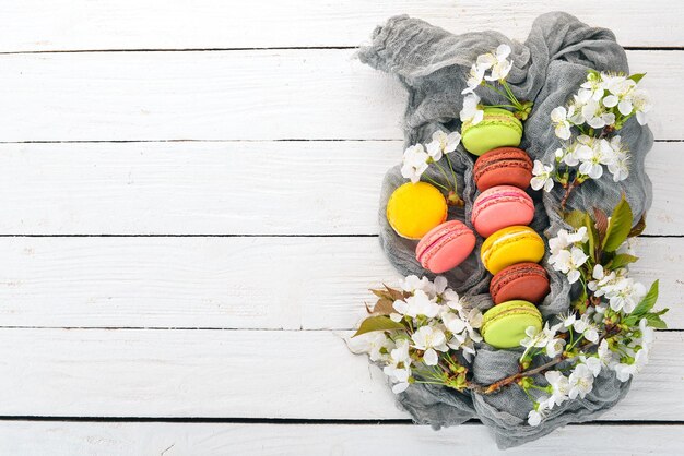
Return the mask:
[[475, 248], [475, 233], [459, 220], [449, 220], [429, 230], [415, 249], [421, 265], [440, 274], [463, 262]]

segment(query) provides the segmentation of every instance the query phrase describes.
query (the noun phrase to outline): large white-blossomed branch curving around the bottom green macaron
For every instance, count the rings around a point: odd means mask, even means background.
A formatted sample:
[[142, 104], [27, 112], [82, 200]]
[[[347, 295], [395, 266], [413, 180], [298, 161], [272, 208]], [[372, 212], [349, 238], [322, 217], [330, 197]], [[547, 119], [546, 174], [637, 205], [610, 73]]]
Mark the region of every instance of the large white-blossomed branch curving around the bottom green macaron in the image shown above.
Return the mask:
[[[637, 257], [628, 253], [627, 240], [645, 228], [642, 221], [632, 228], [632, 219], [623, 199], [610, 218], [599, 209], [593, 217], [570, 213], [566, 221], [576, 231], [562, 229], [549, 240], [549, 263], [581, 285], [580, 295], [557, 323], [527, 328], [515, 374], [488, 385], [472, 381], [461, 360], [470, 362], [482, 341], [482, 314], [469, 309], [444, 277], [433, 283], [409, 276], [401, 289], [373, 290], [378, 301], [352, 338], [352, 349], [384, 365], [394, 393], [431, 384], [488, 395], [518, 385], [533, 404], [528, 422], [538, 425], [555, 406], [589, 394], [604, 369], [628, 381], [648, 360], [653, 328], [665, 327], [661, 315], [668, 310], [652, 311], [658, 281], [647, 291], [628, 276], [626, 266]], [[533, 368], [538, 357], [544, 359]], [[540, 374], [545, 383], [536, 383]]]

